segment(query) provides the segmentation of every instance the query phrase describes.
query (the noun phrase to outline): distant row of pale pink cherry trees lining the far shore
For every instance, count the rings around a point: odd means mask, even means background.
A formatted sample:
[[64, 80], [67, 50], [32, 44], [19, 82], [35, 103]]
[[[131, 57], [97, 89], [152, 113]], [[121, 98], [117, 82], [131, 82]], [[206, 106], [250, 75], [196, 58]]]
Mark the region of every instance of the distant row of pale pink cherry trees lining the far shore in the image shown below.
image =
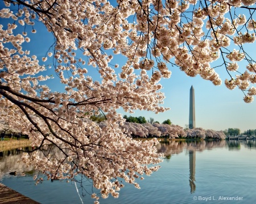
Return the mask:
[[[133, 117], [123, 116], [125, 122], [120, 126], [125, 130], [126, 134], [130, 137], [166, 137], [170, 139], [174, 138], [199, 138], [199, 139], [225, 139], [226, 135], [223, 131], [215, 130], [204, 130], [203, 128], [196, 129], [183, 129], [179, 125], [173, 125], [170, 119], [163, 121], [160, 124], [155, 121], [154, 118], [150, 117], [146, 120], [145, 117]], [[100, 126], [104, 126], [105, 116], [104, 114], [93, 115], [90, 120], [98, 122]], [[229, 129], [226, 133], [240, 134], [239, 129]]]

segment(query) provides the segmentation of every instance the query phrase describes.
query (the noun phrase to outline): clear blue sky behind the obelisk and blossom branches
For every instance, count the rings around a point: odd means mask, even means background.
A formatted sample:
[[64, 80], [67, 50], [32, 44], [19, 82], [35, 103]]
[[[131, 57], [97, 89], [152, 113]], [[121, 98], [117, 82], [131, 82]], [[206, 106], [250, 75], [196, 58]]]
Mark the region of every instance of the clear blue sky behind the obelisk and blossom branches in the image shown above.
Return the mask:
[[[1, 19], [1, 23], [5, 24], [5, 22], [7, 22], [6, 19]], [[46, 55], [49, 46], [53, 42], [51, 33], [48, 33], [41, 25], [40, 23], [39, 25], [35, 25], [36, 34], [31, 33], [31, 26], [26, 27], [31, 42], [27, 45], [24, 44], [24, 47], [27, 46], [27, 49], [31, 50], [31, 55], [35, 54], [38, 58]], [[253, 46], [250, 45], [249, 49], [255, 58], [255, 49]], [[47, 65], [51, 62], [50, 59], [44, 62], [44, 64]], [[119, 67], [121, 67], [125, 61], [123, 61], [122, 57], [114, 55], [114, 63], [119, 63]], [[246, 65], [242, 66], [245, 67]], [[216, 69], [216, 72], [220, 74], [222, 79], [221, 86], [214, 86], [212, 82], [201, 79], [200, 76], [191, 78], [181, 72], [178, 67], [172, 67], [171, 65], [168, 65], [168, 67], [172, 71], [171, 78], [163, 79], [161, 84], [164, 87], [162, 91], [166, 95], [163, 105], [164, 107], [171, 108], [170, 111], [159, 114], [135, 111], [132, 116], [144, 116], [147, 120], [152, 117], [155, 121], [161, 123], [164, 120], [170, 119], [173, 124], [184, 127], [185, 124], [188, 124], [189, 90], [193, 85], [195, 89], [196, 127], [213, 130], [239, 128], [241, 131], [256, 129], [256, 102], [253, 101], [251, 104], [246, 104], [243, 102], [243, 93], [241, 90], [236, 88], [230, 91], [225, 87], [225, 78], [229, 79], [229, 76], [224, 66], [217, 67]], [[91, 73], [93, 68], [86, 68]], [[94, 70], [96, 71], [96, 69]], [[118, 69], [116, 70], [118, 72]], [[52, 73], [54, 73], [53, 68], [49, 71], [49, 74]], [[60, 86], [58, 82], [58, 78], [51, 79], [48, 85], [50, 88], [56, 88]], [[118, 112], [127, 114], [128, 116], [130, 115], [130, 113], [125, 113], [122, 110], [118, 110]]]

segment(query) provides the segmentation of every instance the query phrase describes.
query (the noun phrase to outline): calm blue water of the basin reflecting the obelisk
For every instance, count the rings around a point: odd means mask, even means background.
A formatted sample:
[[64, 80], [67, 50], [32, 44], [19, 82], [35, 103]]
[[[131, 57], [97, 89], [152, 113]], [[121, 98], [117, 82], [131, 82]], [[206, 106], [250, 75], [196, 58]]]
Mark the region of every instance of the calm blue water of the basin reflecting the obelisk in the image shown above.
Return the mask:
[[[158, 150], [166, 155], [162, 168], [138, 181], [141, 189], [125, 184], [119, 198], [109, 196], [100, 203], [255, 203], [256, 141], [170, 141]], [[17, 164], [19, 156], [16, 150], [0, 152], [0, 182], [6, 186], [40, 203], [93, 203], [85, 192], [92, 192], [90, 182], [84, 189], [65, 181], [35, 186], [36, 172]], [[11, 176], [11, 171], [27, 174]]]

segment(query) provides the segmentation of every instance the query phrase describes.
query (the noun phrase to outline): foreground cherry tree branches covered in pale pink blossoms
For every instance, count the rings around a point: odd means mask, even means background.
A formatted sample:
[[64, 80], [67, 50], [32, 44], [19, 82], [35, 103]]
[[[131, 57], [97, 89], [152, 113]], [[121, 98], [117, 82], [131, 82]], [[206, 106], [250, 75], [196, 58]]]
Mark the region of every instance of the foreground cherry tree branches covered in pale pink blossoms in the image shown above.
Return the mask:
[[[240, 88], [243, 100], [251, 103], [256, 94], [250, 85], [256, 82], [256, 63], [247, 44], [255, 41], [254, 3], [1, 1], [0, 117], [10, 120], [11, 128], [27, 134], [37, 147], [23, 162], [57, 179], [84, 175], [101, 189], [102, 198], [118, 197], [123, 184], [115, 178], [139, 188], [135, 179], [159, 168], [147, 167], [160, 162], [154, 147], [157, 141], [127, 137], [116, 110], [166, 111], [161, 106], [164, 94], [159, 81], [170, 78], [168, 63], [214, 85], [221, 84], [215, 70], [225, 69], [226, 87]], [[29, 43], [28, 35], [36, 36], [35, 24], [53, 38], [40, 58], [29, 47], [36, 46]], [[121, 67], [113, 63], [117, 54], [125, 58]], [[47, 74], [49, 61], [54, 76]], [[47, 85], [50, 80], [63, 84], [65, 91], [55, 91]], [[105, 115], [104, 125], [89, 120], [100, 113]], [[62, 157], [38, 155], [40, 148], [52, 144]], [[92, 197], [99, 199], [95, 194]]]

